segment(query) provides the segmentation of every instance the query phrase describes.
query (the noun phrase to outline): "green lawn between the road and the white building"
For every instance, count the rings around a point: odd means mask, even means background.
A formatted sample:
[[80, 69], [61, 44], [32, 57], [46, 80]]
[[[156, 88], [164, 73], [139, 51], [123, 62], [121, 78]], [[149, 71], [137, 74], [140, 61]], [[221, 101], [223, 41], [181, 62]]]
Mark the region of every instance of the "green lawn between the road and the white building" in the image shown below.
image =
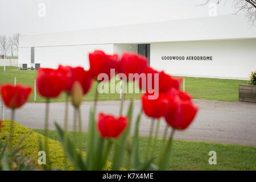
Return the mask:
[[[0, 68], [0, 84], [12, 83], [14, 84], [14, 77], [16, 77], [17, 83], [24, 85], [30, 85], [34, 88], [34, 79], [36, 71], [26, 70], [20, 71], [18, 68], [6, 68], [6, 72]], [[118, 84], [118, 81], [116, 81]], [[133, 83], [131, 83], [133, 84]], [[238, 85], [247, 84], [245, 80], [229, 80], [218, 78], [197, 78], [197, 77], [185, 77], [185, 91], [192, 94], [193, 98], [200, 98], [205, 100], [217, 100], [217, 101], [238, 101]], [[134, 84], [137, 85], [137, 84]], [[181, 85], [183, 89], [183, 85]], [[84, 97], [84, 101], [93, 101], [94, 94], [96, 92], [96, 84], [94, 82], [92, 89]], [[126, 94], [125, 99], [138, 99], [139, 93]], [[99, 94], [99, 100], [119, 100], [118, 93]], [[52, 102], [63, 102], [65, 100], [64, 94], [55, 98]], [[34, 90], [29, 98], [30, 102], [34, 102]], [[44, 102], [44, 98], [36, 94], [36, 102]]]

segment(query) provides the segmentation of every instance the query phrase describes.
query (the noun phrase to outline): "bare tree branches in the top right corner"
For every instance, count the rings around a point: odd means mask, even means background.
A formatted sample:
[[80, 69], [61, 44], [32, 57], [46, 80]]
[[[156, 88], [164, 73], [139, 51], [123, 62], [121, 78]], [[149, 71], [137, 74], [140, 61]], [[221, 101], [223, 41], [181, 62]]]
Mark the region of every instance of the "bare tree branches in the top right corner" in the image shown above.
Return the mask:
[[[205, 0], [205, 3], [202, 5], [207, 5], [211, 0]], [[217, 4], [223, 1], [227, 0], [214, 0]], [[224, 2], [224, 3], [225, 3]], [[236, 13], [240, 11], [243, 11], [247, 18], [249, 19], [249, 22], [251, 22], [251, 25], [253, 26], [255, 20], [256, 20], [256, 0], [237, 0], [236, 4], [234, 5], [236, 9]]]

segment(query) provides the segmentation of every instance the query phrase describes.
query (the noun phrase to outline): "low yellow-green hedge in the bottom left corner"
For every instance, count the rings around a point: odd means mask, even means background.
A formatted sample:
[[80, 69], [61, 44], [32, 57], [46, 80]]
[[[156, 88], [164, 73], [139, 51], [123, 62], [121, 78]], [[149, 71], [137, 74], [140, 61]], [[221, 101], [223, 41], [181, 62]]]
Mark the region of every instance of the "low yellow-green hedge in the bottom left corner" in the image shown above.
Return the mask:
[[[2, 123], [2, 138], [1, 142], [5, 142], [7, 136], [10, 133], [10, 120], [4, 120]], [[34, 159], [36, 162], [40, 156], [38, 156], [39, 151], [39, 143], [38, 138], [41, 138], [43, 141], [44, 136], [42, 134], [36, 133], [32, 129], [28, 129], [20, 125], [19, 123], [14, 122], [14, 135], [13, 135], [13, 145], [20, 143], [23, 140], [23, 154]], [[49, 146], [49, 156], [51, 166], [59, 169], [64, 169], [64, 151], [61, 143], [53, 140], [48, 139], [48, 146]], [[82, 155], [85, 156], [85, 152], [82, 152]], [[107, 163], [105, 170], [109, 170], [111, 163]], [[73, 166], [71, 162], [68, 161], [68, 169], [73, 170]]]

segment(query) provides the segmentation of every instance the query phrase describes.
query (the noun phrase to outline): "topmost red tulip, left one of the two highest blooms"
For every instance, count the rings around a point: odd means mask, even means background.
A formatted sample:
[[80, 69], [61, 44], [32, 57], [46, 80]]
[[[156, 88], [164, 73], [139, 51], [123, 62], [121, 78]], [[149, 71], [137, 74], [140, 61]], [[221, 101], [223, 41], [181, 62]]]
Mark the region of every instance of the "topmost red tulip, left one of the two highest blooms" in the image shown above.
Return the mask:
[[94, 51], [93, 53], [89, 53], [90, 75], [97, 80], [100, 73], [105, 73], [109, 77], [108, 80], [110, 80], [110, 78], [114, 76], [110, 74], [110, 69], [117, 69], [117, 59], [118, 55], [106, 55], [103, 51]]

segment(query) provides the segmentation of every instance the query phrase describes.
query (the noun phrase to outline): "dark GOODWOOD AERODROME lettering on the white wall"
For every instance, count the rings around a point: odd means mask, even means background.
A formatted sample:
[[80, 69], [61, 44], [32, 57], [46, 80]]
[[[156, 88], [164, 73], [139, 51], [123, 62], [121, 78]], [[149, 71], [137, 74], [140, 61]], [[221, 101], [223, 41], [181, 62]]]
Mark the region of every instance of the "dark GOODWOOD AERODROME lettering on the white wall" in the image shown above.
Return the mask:
[[212, 61], [212, 56], [162, 56], [162, 60], [202, 60]]

